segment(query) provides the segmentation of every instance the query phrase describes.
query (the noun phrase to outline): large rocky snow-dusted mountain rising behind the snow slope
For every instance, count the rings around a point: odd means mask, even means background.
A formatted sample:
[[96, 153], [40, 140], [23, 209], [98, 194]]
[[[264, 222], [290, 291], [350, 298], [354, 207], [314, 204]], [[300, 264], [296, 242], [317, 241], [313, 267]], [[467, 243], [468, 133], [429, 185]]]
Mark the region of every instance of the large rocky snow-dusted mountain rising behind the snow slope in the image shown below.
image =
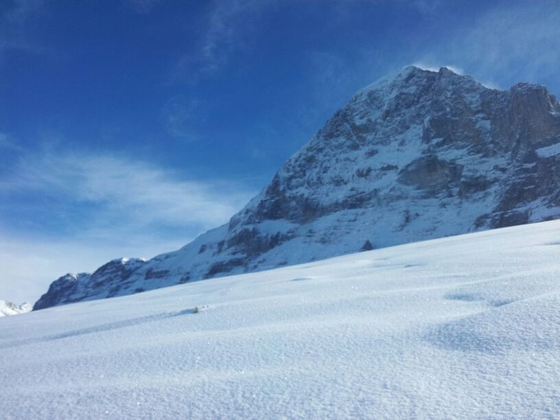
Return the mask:
[[228, 224], [66, 275], [34, 309], [560, 218], [560, 104], [406, 67], [356, 93]]

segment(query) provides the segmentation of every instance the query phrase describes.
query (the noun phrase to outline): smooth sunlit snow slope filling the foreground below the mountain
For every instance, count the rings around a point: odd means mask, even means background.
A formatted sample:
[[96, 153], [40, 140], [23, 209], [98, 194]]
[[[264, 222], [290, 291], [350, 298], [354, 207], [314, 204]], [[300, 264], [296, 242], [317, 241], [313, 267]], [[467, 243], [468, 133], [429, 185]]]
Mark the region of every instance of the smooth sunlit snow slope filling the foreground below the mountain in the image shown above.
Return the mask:
[[559, 251], [552, 221], [1, 318], [1, 417], [558, 419]]

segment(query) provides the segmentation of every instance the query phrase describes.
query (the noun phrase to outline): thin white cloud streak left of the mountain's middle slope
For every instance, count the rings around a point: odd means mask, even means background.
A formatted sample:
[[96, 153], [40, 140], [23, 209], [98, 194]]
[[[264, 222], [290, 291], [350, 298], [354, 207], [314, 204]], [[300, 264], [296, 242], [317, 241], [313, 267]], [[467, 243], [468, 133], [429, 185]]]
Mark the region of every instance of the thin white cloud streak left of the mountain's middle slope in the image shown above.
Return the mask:
[[110, 155], [43, 154], [27, 158], [0, 191], [36, 191], [135, 226], [210, 226], [226, 222], [252, 196], [223, 180], [189, 180], [144, 161]]

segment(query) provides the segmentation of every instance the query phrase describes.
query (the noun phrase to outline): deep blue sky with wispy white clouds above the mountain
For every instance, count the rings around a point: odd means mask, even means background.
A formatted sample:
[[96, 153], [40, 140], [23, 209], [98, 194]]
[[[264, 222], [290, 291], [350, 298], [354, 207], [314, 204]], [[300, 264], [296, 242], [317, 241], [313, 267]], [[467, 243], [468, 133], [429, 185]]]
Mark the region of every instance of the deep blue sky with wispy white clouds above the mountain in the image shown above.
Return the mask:
[[400, 67], [560, 93], [557, 1], [0, 1], [0, 299], [178, 248]]

